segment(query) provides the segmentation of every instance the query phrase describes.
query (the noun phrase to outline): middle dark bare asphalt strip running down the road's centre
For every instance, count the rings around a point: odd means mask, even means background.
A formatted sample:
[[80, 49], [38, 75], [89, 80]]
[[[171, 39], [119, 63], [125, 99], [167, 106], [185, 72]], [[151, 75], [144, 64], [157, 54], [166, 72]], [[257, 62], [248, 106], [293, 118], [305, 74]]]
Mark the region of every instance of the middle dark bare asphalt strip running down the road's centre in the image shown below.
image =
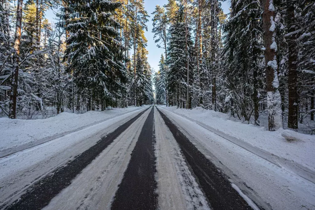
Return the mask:
[[112, 202], [112, 209], [157, 209], [152, 108], [146, 118], [128, 167]]

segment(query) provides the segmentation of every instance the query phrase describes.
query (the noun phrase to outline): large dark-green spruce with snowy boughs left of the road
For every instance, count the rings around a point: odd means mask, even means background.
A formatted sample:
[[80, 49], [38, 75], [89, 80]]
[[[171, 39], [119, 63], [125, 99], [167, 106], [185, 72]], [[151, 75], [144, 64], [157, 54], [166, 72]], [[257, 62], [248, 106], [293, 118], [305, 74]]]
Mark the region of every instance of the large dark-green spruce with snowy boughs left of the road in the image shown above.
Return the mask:
[[88, 110], [95, 109], [95, 102], [107, 101], [115, 105], [127, 80], [125, 57], [120, 43], [117, 21], [113, 19], [120, 3], [107, 1], [67, 0], [64, 15], [67, 71], [79, 90], [88, 88]]

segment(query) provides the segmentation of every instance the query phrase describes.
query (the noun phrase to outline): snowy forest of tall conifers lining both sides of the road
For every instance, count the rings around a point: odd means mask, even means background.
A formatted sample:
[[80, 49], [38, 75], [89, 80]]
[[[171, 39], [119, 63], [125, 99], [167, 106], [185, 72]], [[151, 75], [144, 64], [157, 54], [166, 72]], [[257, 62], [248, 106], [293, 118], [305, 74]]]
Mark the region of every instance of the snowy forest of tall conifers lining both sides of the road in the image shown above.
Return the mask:
[[[228, 1], [228, 14], [218, 0], [168, 0], [148, 14], [144, 0], [1, 0], [0, 116], [157, 104], [314, 134], [315, 3]], [[164, 51], [156, 71], [151, 19]]]

